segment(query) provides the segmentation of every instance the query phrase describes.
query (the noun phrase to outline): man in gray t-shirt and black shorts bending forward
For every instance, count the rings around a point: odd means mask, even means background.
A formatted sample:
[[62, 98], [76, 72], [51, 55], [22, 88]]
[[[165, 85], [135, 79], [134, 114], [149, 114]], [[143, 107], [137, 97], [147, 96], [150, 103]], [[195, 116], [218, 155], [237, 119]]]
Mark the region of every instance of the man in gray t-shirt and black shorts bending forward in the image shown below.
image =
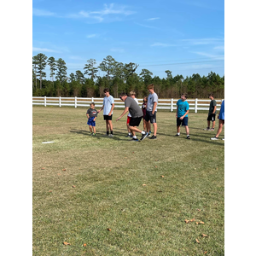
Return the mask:
[[131, 130], [132, 135], [133, 135], [132, 141], [138, 142], [138, 139], [135, 135], [135, 132], [140, 132], [142, 134], [141, 141], [143, 141], [143, 139], [148, 136], [148, 132], [141, 131], [141, 130], [137, 129], [137, 126], [140, 125], [141, 120], [143, 118], [142, 108], [140, 108], [137, 105], [137, 102], [135, 102], [134, 99], [132, 99], [131, 97], [128, 97], [126, 95], [126, 93], [121, 93], [120, 94], [120, 99], [123, 102], [125, 102], [125, 110], [119, 116], [119, 118], [116, 119], [116, 120], [118, 121], [119, 119], [121, 119], [125, 115], [125, 113], [130, 112], [131, 113], [131, 120], [130, 120], [130, 123], [129, 123], [129, 129]]

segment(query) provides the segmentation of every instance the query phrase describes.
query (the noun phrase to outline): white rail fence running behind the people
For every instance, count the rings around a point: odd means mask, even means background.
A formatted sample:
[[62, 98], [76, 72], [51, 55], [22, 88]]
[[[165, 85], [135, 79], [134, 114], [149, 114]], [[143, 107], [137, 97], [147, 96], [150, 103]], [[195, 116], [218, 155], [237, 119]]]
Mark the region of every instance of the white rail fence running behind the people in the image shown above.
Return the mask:
[[[139, 106], [142, 107], [143, 99], [137, 99]], [[178, 99], [159, 99], [157, 109], [168, 109], [170, 111], [176, 110], [176, 103]], [[216, 100], [217, 110], [220, 109], [222, 100]], [[95, 106], [102, 107], [103, 98], [83, 98], [83, 97], [32, 97], [32, 105], [43, 105], [46, 106], [71, 106], [74, 108], [78, 107], [90, 107], [90, 102], [95, 102]], [[201, 100], [201, 99], [188, 99], [189, 109], [195, 110], [197, 113], [198, 110], [209, 110], [210, 99]], [[119, 98], [114, 98], [114, 108], [125, 108], [125, 103], [122, 102]]]

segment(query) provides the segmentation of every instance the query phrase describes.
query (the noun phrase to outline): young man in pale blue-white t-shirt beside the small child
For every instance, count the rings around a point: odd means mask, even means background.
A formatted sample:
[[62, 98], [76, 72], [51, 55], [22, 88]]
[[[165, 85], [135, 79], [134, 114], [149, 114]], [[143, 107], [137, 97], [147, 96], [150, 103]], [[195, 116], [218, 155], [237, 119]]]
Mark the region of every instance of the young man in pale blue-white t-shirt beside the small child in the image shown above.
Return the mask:
[[[103, 118], [106, 120], [106, 129], [107, 133], [105, 134], [108, 137], [113, 137], [113, 124], [112, 124], [112, 115], [113, 115], [113, 108], [114, 108], [114, 101], [113, 96], [109, 94], [109, 89], [104, 89], [105, 97], [103, 99], [103, 106], [98, 111], [100, 113], [103, 110]], [[110, 130], [110, 134], [109, 134]]]

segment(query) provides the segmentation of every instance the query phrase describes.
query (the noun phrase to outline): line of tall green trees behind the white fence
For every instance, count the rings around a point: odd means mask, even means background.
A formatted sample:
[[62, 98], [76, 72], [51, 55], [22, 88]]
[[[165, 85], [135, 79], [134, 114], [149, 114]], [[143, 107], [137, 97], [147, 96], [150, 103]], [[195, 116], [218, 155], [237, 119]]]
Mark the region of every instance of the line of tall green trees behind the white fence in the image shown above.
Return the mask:
[[[49, 65], [49, 77], [46, 78], [44, 69]], [[47, 57], [39, 53], [32, 56], [32, 96], [80, 96], [102, 97], [103, 90], [108, 87], [110, 94], [119, 97], [122, 91], [135, 90], [138, 98], [148, 95], [148, 84], [154, 84], [154, 91], [160, 98], [177, 98], [182, 92], [187, 92], [189, 98], [207, 98], [210, 92], [217, 98], [224, 98], [224, 76], [208, 73], [200, 76], [194, 73], [190, 77], [183, 75], [172, 76], [172, 71], [166, 70], [166, 78], [154, 76], [148, 69], [142, 69], [137, 74], [136, 63], [124, 64], [115, 61], [108, 55], [96, 67], [96, 60], [90, 59], [84, 64], [84, 72], [77, 70], [67, 77], [66, 62], [61, 58]], [[99, 76], [99, 71], [104, 75]], [[85, 77], [87, 76], [87, 77]]]

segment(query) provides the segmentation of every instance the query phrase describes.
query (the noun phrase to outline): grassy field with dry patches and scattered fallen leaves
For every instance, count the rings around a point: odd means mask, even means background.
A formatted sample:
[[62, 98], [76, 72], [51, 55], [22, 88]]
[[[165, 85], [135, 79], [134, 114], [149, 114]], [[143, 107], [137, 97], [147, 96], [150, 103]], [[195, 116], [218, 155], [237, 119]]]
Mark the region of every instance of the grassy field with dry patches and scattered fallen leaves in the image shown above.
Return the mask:
[[224, 255], [224, 141], [203, 131], [207, 113], [189, 113], [187, 140], [158, 112], [157, 139], [140, 143], [121, 110], [113, 138], [102, 113], [90, 137], [85, 113], [32, 108], [33, 255]]

